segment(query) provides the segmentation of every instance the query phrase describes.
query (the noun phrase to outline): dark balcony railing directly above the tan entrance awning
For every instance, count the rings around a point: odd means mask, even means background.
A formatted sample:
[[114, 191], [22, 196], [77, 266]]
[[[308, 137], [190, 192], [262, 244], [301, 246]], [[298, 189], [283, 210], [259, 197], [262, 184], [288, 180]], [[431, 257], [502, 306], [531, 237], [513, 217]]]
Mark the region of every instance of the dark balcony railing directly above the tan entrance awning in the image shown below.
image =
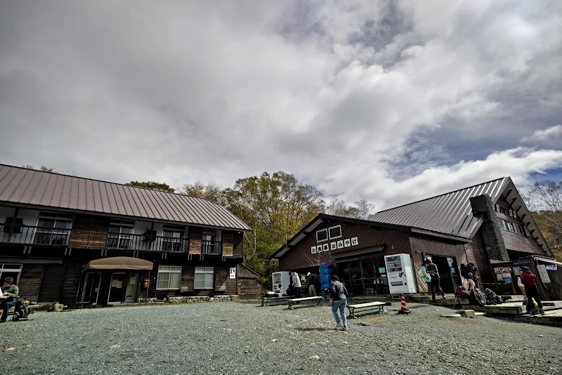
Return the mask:
[[110, 233], [105, 246], [108, 249], [131, 249], [146, 251], [170, 251], [185, 253], [188, 251], [188, 239], [161, 237], [152, 235], [124, 235]]

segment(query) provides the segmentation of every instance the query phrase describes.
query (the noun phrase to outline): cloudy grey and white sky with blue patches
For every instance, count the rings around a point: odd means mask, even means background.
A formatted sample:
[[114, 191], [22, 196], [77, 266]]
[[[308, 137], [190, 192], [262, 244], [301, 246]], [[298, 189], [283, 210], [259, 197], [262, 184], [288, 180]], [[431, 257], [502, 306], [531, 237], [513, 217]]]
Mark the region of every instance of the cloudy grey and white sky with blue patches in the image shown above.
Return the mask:
[[375, 211], [562, 180], [561, 1], [0, 1], [0, 163], [293, 173]]

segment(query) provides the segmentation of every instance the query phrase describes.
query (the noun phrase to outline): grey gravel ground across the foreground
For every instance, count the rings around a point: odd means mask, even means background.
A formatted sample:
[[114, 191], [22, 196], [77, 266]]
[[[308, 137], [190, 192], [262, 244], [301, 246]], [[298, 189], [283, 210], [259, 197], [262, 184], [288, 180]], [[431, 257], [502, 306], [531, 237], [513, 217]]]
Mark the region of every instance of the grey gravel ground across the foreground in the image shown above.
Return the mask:
[[[558, 374], [562, 329], [491, 317], [219, 302], [37, 312], [0, 325], [4, 374]], [[318, 356], [318, 357], [314, 357]], [[311, 358], [312, 357], [312, 358]], [[18, 371], [18, 372], [16, 372]]]

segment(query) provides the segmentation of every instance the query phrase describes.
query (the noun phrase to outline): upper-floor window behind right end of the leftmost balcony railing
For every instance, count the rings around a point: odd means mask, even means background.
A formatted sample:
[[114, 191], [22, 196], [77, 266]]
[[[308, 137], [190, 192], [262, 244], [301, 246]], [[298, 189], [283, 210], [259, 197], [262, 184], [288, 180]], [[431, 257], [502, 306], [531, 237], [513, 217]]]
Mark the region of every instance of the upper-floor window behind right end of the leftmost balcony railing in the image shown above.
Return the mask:
[[72, 215], [40, 212], [34, 244], [65, 246], [72, 227]]

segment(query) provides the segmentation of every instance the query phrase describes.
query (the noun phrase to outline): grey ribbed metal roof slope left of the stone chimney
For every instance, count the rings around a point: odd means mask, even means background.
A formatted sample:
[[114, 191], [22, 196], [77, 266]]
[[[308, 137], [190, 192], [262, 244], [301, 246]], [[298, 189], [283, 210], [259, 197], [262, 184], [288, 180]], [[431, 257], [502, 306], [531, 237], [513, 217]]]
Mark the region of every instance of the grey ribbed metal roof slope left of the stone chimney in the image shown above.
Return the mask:
[[468, 238], [479, 226], [479, 220], [481, 220], [472, 215], [469, 199], [487, 194], [492, 198], [492, 202], [497, 202], [499, 195], [509, 182], [510, 178], [504, 177], [465, 187], [437, 197], [380, 211], [375, 213], [371, 220]]

